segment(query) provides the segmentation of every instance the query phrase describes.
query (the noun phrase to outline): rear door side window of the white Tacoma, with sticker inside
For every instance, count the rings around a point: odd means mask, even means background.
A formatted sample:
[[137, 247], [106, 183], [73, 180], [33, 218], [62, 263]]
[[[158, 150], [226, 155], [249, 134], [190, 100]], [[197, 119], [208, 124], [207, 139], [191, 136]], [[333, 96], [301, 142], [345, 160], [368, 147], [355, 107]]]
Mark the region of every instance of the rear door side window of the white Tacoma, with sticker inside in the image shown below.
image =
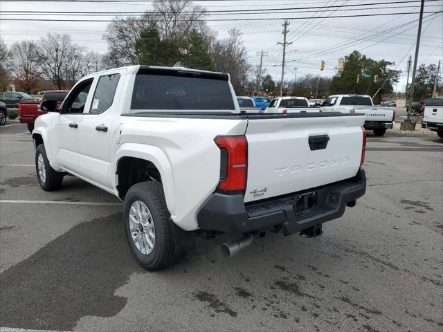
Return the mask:
[[120, 80], [120, 74], [100, 76], [89, 113], [103, 113], [111, 107], [112, 102], [114, 102], [118, 80]]

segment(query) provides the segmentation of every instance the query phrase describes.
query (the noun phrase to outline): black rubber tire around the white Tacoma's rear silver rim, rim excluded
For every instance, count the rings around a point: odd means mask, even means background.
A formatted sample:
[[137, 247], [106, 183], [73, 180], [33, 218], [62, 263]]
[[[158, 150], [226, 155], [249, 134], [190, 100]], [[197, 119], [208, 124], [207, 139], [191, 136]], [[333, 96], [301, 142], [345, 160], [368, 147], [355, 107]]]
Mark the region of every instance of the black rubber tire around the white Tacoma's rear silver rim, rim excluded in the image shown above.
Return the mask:
[[[148, 254], [138, 250], [129, 229], [129, 212], [136, 201], [141, 201], [146, 205], [154, 223], [154, 246]], [[170, 212], [166, 207], [163, 186], [160, 182], [141, 182], [129, 188], [123, 203], [123, 223], [129, 247], [141, 266], [148, 270], [160, 270], [170, 266], [177, 259], [170, 225]]]

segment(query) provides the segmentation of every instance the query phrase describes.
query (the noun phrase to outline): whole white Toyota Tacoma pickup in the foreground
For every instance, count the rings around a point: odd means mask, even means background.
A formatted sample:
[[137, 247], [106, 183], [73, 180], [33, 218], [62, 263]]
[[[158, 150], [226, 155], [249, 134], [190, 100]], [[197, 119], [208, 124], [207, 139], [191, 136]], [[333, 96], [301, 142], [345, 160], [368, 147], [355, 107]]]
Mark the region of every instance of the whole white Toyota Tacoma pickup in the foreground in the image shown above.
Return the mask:
[[365, 193], [363, 116], [240, 113], [226, 73], [116, 68], [42, 109], [32, 134], [42, 189], [73, 175], [116, 195], [129, 247], [151, 270], [196, 235], [238, 237], [226, 255], [269, 229], [319, 235]]

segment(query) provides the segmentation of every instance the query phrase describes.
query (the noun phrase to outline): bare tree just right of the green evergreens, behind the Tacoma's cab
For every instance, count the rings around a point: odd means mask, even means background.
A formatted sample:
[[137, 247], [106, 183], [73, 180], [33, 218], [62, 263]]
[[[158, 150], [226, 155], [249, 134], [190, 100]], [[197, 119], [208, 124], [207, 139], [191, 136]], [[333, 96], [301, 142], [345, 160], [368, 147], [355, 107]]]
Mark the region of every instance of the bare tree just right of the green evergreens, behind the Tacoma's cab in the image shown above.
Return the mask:
[[229, 30], [228, 38], [215, 42], [212, 49], [216, 70], [230, 74], [230, 80], [237, 95], [246, 92], [248, 75], [251, 71], [241, 35], [239, 30], [233, 28]]

